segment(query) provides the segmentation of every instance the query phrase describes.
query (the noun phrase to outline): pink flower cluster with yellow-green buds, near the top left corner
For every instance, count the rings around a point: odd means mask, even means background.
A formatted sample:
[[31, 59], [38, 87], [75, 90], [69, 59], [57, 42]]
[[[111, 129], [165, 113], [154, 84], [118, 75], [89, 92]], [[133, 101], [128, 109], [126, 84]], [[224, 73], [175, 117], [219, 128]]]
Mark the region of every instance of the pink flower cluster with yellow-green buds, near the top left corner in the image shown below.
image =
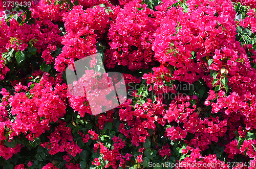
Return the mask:
[[20, 26], [19, 23], [10, 20], [11, 28], [8, 27], [8, 37], [11, 37], [6, 44], [6, 49], [14, 49], [15, 51], [24, 51], [28, 46], [34, 46], [37, 52], [45, 50], [49, 44], [59, 45], [61, 37], [58, 35], [60, 30], [51, 20], [44, 19], [42, 21], [35, 20], [35, 24]]

